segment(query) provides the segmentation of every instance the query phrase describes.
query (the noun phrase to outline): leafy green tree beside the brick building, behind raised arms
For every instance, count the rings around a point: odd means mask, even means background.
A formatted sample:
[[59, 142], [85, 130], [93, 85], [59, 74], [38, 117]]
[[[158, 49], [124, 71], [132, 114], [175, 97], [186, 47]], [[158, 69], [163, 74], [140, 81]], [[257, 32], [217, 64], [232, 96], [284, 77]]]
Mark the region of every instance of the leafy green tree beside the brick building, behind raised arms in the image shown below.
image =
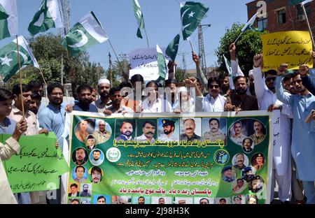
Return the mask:
[[[230, 59], [229, 46], [233, 43], [239, 34], [243, 24], [234, 23], [230, 29], [226, 29], [224, 36], [220, 40], [220, 45], [216, 49], [216, 56], [218, 57], [218, 65], [220, 71], [227, 71], [225, 67], [225, 57]], [[245, 75], [253, 68], [253, 56], [262, 52], [262, 34], [259, 31], [246, 30], [241, 35], [236, 43], [237, 46], [237, 59], [239, 59], [239, 66]]]

